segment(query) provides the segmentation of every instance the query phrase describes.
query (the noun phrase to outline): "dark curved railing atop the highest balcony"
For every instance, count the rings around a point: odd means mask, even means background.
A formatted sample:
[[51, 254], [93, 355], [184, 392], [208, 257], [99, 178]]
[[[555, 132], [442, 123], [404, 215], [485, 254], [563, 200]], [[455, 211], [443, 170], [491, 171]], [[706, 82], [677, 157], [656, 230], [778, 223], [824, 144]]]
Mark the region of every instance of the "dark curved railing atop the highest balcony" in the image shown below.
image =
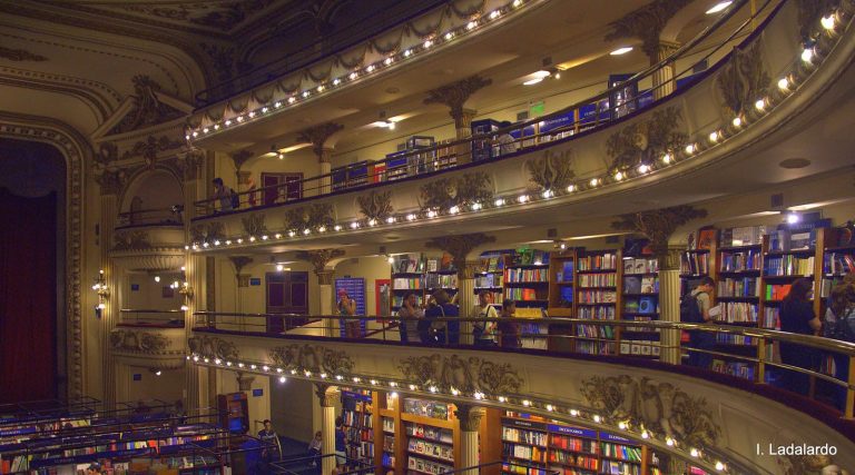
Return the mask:
[[[365, 16], [370, 21], [351, 23], [301, 49], [287, 51], [276, 60], [200, 91], [196, 95], [196, 107], [202, 108], [228, 99], [236, 93], [245, 92], [294, 72], [318, 59], [341, 53], [387, 29], [407, 22], [448, 2], [448, 0], [419, 2], [419, 8], [415, 11], [413, 6], [407, 4], [407, 2], [397, 2], [389, 8], [375, 9]], [[237, 88], [240, 90], [236, 90]]]

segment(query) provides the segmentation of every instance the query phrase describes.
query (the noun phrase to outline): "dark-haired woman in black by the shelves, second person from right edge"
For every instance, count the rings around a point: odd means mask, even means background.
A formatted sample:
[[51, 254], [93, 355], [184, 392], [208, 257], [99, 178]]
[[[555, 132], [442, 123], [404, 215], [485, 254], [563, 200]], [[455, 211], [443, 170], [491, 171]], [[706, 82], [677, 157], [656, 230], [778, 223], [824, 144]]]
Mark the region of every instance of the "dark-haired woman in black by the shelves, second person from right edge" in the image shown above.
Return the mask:
[[[808, 294], [813, 288], [810, 279], [800, 278], [793, 283], [789, 294], [780, 304], [780, 330], [800, 335], [816, 335], [823, 324], [814, 315], [814, 305]], [[785, 365], [812, 369], [816, 352], [793, 343], [780, 343], [780, 360]], [[807, 395], [809, 378], [806, 374], [784, 369], [784, 385], [787, 389]]]

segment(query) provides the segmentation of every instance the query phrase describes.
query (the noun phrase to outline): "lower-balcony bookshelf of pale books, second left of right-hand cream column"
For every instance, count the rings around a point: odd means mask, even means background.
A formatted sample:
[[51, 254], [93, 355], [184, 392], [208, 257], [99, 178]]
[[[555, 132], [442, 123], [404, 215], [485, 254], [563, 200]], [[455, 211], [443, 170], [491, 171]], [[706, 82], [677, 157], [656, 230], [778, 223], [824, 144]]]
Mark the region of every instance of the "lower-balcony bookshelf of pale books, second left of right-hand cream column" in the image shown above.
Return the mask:
[[[576, 317], [615, 320], [621, 307], [618, 283], [622, 265], [619, 250], [582, 250], [576, 259]], [[619, 329], [607, 325], [576, 326], [576, 350], [588, 355], [615, 355]]]

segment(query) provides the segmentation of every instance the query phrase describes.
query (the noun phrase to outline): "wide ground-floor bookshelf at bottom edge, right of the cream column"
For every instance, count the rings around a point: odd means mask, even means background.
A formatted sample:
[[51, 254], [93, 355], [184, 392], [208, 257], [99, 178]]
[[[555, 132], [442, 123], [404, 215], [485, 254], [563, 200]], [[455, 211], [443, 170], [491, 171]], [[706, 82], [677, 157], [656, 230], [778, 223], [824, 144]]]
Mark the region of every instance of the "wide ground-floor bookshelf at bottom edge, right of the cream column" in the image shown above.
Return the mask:
[[615, 434], [515, 412], [507, 412], [501, 423], [502, 473], [661, 474], [653, 451]]

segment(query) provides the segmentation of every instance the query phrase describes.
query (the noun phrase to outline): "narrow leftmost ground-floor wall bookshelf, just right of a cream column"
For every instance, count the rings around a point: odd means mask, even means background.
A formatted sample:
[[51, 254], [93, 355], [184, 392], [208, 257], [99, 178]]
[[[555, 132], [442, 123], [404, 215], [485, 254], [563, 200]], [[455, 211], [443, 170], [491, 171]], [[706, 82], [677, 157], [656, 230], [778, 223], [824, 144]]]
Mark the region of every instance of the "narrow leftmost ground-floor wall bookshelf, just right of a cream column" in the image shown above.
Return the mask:
[[342, 389], [342, 419], [347, 457], [374, 463], [374, 405], [370, 390]]

